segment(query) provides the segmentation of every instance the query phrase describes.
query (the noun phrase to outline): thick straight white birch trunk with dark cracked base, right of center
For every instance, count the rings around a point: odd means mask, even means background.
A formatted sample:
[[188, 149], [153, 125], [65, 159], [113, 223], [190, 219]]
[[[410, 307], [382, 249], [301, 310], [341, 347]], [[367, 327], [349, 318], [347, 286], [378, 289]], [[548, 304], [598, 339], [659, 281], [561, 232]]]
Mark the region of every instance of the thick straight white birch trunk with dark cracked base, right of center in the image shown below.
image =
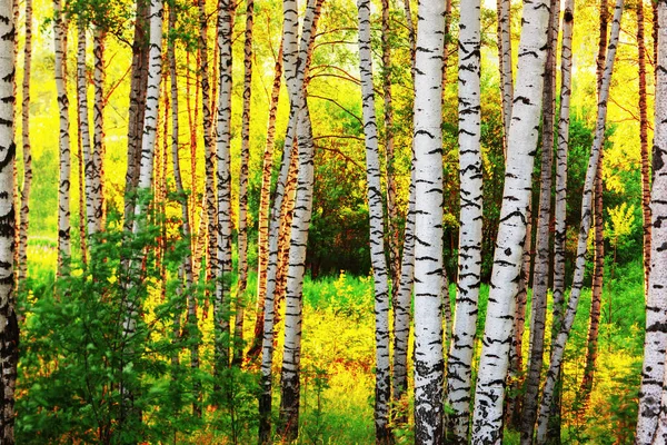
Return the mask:
[[445, 3], [419, 2], [415, 59], [415, 442], [444, 435], [442, 47]]

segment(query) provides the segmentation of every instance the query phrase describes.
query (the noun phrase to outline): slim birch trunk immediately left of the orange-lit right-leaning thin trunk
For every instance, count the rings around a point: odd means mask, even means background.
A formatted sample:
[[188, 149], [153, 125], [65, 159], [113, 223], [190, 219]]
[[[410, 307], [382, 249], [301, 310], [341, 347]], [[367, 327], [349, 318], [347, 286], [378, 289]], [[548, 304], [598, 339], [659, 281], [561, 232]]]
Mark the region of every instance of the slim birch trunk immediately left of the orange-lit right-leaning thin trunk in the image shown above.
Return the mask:
[[246, 42], [243, 44], [243, 111], [241, 126], [241, 167], [239, 174], [239, 226], [236, 324], [233, 329], [233, 362], [241, 364], [243, 355], [245, 294], [248, 284], [248, 161], [250, 159], [250, 99], [252, 95], [252, 18], [255, 1], [246, 1]]

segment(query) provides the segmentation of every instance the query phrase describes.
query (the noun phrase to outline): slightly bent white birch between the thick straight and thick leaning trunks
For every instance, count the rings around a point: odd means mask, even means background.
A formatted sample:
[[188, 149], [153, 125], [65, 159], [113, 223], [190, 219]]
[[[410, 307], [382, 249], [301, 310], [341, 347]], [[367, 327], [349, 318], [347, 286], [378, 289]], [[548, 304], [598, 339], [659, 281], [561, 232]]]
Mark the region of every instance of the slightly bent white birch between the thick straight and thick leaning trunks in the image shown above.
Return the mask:
[[[447, 360], [448, 429], [451, 443], [468, 442], [470, 379], [481, 283], [482, 161], [480, 123], [480, 1], [461, 3], [459, 30], [460, 231], [458, 289], [451, 349]], [[445, 304], [448, 304], [446, 300]]]

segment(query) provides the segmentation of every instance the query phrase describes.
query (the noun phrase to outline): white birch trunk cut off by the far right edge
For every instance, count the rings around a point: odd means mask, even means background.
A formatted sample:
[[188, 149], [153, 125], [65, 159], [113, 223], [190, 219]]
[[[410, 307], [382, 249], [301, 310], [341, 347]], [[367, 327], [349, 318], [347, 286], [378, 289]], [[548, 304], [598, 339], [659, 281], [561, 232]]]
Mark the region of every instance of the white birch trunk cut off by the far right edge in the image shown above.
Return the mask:
[[[646, 298], [646, 337], [644, 368], [637, 422], [638, 445], [654, 444], [658, 416], [664, 409], [665, 350], [667, 349], [667, 1], [657, 2], [656, 109], [653, 152], [654, 182], [650, 196], [651, 248], [648, 295]], [[663, 407], [661, 407], [663, 405]], [[665, 443], [665, 437], [661, 437]]]

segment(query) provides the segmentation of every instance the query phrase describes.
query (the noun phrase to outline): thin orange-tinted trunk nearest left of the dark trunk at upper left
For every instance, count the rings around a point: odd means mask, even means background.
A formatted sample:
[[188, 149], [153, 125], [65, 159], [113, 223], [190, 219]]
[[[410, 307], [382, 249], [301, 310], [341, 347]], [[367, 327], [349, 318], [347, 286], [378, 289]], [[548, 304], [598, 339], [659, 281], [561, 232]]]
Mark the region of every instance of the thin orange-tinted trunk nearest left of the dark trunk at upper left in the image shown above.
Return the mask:
[[93, 216], [96, 220], [96, 230], [104, 227], [104, 40], [106, 31], [96, 28], [92, 46], [94, 58], [93, 87], [94, 106], [92, 109], [92, 120], [94, 130], [92, 134], [92, 185], [97, 200], [93, 201]]

